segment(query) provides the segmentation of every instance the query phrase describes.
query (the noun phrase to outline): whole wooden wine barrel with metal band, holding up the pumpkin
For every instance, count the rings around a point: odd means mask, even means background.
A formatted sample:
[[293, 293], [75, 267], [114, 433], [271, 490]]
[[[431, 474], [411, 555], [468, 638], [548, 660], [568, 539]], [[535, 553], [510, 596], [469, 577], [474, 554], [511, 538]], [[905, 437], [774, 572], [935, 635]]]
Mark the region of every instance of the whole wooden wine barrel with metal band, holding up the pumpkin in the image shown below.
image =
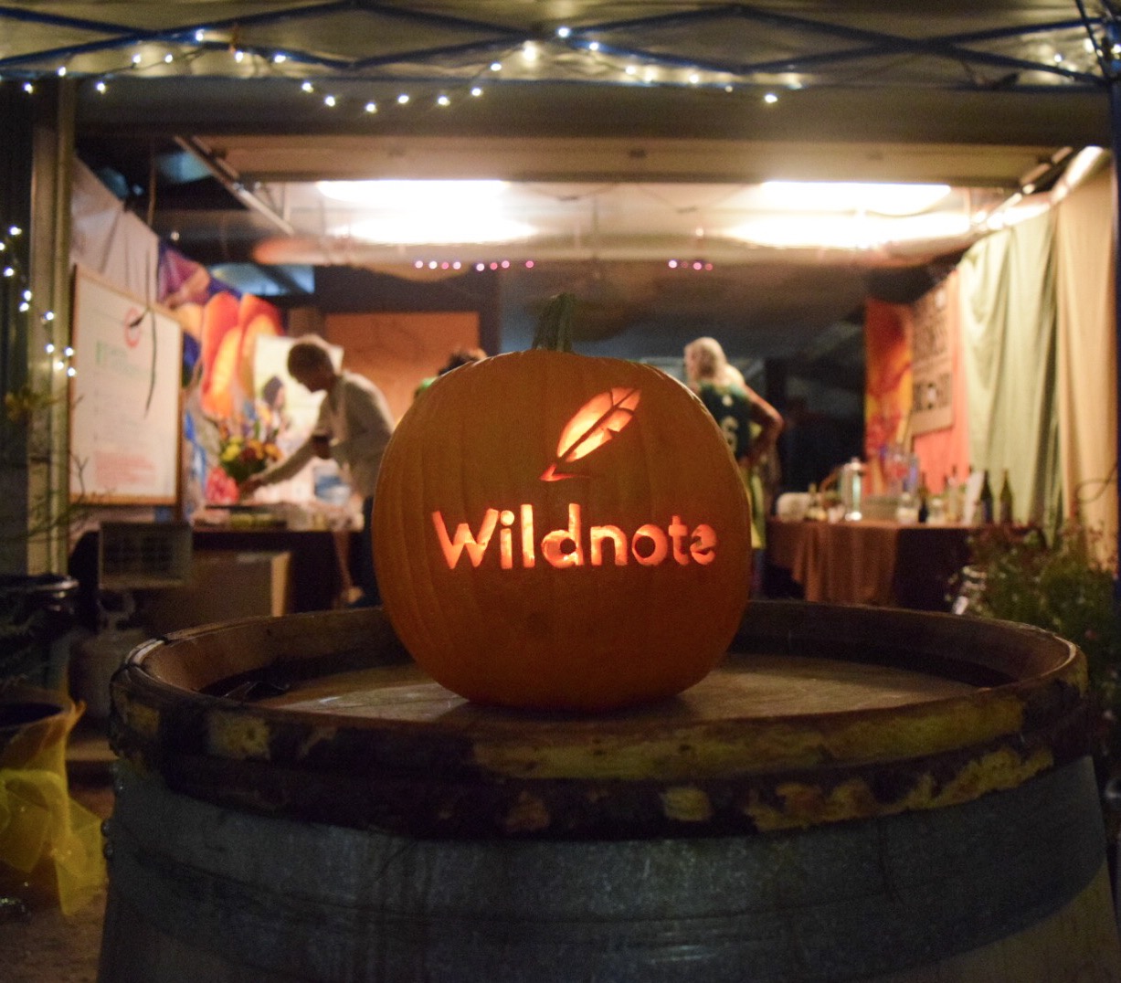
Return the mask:
[[1085, 695], [1034, 629], [796, 602], [599, 716], [469, 704], [378, 610], [151, 641], [99, 979], [1121, 980]]

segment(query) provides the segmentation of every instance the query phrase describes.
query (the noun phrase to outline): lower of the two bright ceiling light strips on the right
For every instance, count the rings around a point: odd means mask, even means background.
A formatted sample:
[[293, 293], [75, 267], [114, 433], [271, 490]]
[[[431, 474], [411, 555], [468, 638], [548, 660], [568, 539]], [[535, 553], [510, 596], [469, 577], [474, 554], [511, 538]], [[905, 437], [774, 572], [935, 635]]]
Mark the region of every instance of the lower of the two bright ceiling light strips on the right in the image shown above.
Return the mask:
[[970, 230], [969, 216], [949, 213], [911, 219], [786, 215], [756, 219], [726, 234], [780, 249], [872, 249], [890, 242], [955, 239]]

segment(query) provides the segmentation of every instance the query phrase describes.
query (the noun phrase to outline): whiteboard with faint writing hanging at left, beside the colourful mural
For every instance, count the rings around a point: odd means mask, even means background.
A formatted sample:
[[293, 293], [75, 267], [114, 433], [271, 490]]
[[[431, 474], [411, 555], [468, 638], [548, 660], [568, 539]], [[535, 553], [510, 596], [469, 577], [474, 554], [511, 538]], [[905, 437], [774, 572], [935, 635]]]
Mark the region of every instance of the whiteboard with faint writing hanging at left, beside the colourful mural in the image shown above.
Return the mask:
[[74, 272], [71, 498], [179, 501], [183, 333], [167, 309]]

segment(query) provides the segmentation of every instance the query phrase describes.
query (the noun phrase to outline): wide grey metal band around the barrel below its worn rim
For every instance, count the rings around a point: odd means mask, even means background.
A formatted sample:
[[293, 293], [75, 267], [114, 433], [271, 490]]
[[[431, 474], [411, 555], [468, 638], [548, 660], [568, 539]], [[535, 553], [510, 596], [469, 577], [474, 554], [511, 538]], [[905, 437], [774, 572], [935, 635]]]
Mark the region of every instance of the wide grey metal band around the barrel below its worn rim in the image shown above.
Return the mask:
[[122, 778], [118, 900], [262, 980], [859, 980], [1009, 937], [1104, 862], [1085, 759], [944, 809], [610, 842], [415, 840]]

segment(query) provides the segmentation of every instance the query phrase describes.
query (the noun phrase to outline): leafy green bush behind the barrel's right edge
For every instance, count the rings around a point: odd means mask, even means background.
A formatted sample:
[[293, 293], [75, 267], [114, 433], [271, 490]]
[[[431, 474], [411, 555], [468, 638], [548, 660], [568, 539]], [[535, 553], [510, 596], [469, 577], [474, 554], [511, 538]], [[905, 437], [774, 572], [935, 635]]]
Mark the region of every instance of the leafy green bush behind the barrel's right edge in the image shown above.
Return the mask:
[[1045, 629], [1082, 649], [1101, 715], [1100, 750], [1121, 761], [1121, 631], [1112, 564], [1095, 559], [1101, 539], [1076, 522], [1049, 544], [1038, 531], [984, 528], [970, 544], [970, 610]]

